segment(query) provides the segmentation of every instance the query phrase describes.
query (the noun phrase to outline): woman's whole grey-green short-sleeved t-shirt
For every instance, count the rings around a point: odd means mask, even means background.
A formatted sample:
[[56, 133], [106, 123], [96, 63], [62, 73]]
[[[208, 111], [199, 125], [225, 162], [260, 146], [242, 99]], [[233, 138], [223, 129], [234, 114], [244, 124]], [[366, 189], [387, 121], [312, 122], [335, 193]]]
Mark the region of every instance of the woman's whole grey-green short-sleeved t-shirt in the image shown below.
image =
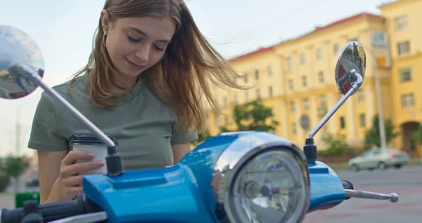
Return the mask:
[[[105, 134], [115, 137], [117, 151], [126, 170], [173, 165], [172, 145], [198, 138], [196, 132], [179, 132], [179, 122], [172, 110], [153, 94], [146, 82], [138, 82], [117, 99], [116, 108], [93, 106], [87, 94], [89, 74], [77, 78], [68, 92], [68, 84], [55, 89]], [[67, 151], [73, 135], [92, 134], [64, 106], [46, 92], [41, 94], [28, 147], [39, 151]]]

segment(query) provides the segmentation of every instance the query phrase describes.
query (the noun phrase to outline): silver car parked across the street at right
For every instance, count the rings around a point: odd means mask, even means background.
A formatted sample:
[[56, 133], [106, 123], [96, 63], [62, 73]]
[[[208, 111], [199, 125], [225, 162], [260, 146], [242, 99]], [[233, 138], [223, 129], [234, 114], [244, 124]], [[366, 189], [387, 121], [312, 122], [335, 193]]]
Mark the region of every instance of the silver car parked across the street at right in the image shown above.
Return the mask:
[[400, 168], [409, 161], [409, 155], [392, 148], [372, 148], [349, 160], [353, 171], [385, 170], [388, 167]]

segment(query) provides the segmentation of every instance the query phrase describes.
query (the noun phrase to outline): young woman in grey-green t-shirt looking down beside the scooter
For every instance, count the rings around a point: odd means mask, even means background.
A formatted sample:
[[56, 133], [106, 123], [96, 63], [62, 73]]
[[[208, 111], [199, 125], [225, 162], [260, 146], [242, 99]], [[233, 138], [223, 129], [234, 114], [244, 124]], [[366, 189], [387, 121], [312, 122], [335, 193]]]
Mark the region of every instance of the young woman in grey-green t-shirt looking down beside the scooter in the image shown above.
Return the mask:
[[[87, 65], [54, 89], [115, 137], [126, 170], [186, 155], [204, 127], [204, 100], [218, 108], [209, 83], [243, 89], [183, 0], [107, 0], [94, 41]], [[82, 191], [79, 173], [104, 165], [69, 152], [77, 134], [91, 132], [43, 93], [28, 144], [38, 152], [41, 203], [71, 200]]]

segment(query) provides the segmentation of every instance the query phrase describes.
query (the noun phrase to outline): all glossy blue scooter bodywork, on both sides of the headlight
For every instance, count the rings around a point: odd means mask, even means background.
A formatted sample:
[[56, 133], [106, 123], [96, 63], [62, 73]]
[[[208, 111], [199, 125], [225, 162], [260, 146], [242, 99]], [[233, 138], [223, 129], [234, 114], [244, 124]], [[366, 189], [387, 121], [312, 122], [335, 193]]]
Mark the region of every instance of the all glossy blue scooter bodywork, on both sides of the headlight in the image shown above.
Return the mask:
[[[84, 193], [108, 213], [108, 222], [218, 222], [211, 180], [213, 167], [226, 148], [290, 141], [262, 132], [238, 132], [207, 139], [177, 165], [163, 169], [131, 170], [117, 177], [88, 175]], [[311, 202], [309, 212], [330, 208], [345, 198], [337, 175], [324, 163], [309, 163]]]

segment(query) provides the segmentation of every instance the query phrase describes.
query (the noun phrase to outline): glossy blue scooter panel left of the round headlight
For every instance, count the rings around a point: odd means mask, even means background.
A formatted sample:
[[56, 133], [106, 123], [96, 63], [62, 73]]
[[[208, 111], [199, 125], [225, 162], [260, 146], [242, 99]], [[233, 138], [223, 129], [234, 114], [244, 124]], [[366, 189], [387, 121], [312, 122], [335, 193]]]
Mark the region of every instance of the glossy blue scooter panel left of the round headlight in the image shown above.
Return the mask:
[[170, 168], [88, 175], [84, 193], [108, 213], [108, 222], [217, 222], [212, 167], [237, 138], [208, 139]]

